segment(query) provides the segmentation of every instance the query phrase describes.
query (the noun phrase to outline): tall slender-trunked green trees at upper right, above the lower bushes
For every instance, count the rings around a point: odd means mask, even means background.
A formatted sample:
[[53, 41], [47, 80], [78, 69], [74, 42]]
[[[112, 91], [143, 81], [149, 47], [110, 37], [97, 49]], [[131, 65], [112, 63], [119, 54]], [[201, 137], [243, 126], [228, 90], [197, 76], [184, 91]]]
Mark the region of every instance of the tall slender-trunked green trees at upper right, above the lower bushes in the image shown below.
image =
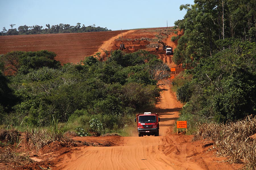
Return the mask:
[[[216, 41], [240, 38], [256, 41], [256, 3], [249, 1], [196, 0], [194, 5], [181, 5], [187, 10], [175, 25], [184, 31], [174, 52], [174, 62], [195, 67], [201, 58], [211, 57], [217, 50]], [[223, 46], [222, 46], [222, 49]]]

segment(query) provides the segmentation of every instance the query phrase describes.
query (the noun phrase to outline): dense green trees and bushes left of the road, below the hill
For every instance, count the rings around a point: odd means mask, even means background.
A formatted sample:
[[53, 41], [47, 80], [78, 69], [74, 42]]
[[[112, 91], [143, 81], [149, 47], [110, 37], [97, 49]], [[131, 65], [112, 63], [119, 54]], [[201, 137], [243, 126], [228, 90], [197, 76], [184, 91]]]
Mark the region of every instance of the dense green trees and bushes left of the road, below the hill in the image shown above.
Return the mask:
[[170, 75], [162, 60], [146, 51], [113, 51], [104, 62], [97, 55], [63, 66], [45, 50], [1, 55], [0, 124], [75, 121], [73, 130], [100, 135], [124, 128], [135, 112], [154, 107], [158, 78]]

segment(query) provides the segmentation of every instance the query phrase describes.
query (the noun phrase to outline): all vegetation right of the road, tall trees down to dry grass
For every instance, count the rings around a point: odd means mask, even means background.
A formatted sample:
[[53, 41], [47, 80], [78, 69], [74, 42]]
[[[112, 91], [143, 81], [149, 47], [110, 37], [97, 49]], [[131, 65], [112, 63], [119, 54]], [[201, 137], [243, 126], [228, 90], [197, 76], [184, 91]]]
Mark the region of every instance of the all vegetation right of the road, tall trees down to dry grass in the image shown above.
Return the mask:
[[[256, 2], [196, 0], [175, 25], [173, 61], [185, 69], [173, 81], [195, 139], [208, 138], [230, 162], [255, 169]], [[251, 115], [251, 116], [249, 116]]]

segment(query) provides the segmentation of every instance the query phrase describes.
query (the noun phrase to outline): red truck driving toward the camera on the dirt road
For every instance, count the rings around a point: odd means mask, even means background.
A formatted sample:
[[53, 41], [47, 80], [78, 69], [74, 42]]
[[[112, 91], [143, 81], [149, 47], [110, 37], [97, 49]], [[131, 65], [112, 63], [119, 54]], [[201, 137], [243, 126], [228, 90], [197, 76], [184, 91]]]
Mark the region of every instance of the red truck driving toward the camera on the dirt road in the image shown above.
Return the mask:
[[137, 122], [139, 137], [143, 135], [159, 136], [160, 117], [157, 113], [144, 112], [137, 114], [135, 122]]

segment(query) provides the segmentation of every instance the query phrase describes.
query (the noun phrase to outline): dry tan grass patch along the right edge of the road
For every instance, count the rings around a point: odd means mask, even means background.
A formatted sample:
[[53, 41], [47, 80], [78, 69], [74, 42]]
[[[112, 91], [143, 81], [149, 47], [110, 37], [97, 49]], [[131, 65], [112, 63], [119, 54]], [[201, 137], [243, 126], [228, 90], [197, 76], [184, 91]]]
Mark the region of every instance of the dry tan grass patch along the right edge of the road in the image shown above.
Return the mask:
[[226, 156], [231, 163], [245, 163], [246, 169], [256, 169], [256, 118], [227, 124], [202, 124], [194, 140], [210, 139], [216, 144], [217, 154]]

